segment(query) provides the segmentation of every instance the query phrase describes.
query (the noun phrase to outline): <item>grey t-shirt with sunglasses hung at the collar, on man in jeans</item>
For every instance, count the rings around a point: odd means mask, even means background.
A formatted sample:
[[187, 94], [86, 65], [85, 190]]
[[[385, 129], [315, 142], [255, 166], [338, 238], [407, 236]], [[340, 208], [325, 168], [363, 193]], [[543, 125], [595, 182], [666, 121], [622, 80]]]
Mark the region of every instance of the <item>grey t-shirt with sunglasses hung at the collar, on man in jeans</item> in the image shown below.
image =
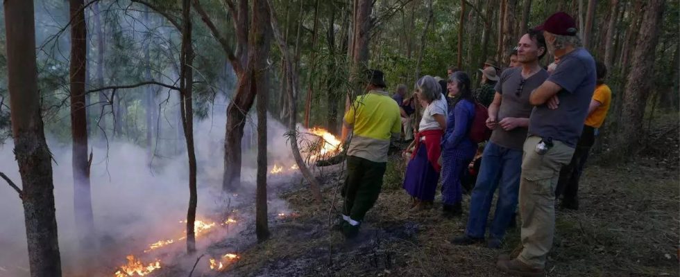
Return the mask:
[[[534, 108], [529, 103], [529, 95], [534, 89], [543, 84], [547, 76], [547, 71], [541, 69], [541, 71], [534, 73], [534, 75], [524, 80], [522, 78], [522, 67], [514, 67], [503, 71], [495, 87], [495, 90], [503, 96], [496, 122], [500, 122], [500, 120], [507, 117], [529, 118]], [[520, 87], [521, 90], [519, 90]], [[522, 145], [524, 145], [526, 139], [526, 127], [516, 127], [510, 131], [498, 127], [493, 129], [490, 140], [504, 148], [522, 150]]]

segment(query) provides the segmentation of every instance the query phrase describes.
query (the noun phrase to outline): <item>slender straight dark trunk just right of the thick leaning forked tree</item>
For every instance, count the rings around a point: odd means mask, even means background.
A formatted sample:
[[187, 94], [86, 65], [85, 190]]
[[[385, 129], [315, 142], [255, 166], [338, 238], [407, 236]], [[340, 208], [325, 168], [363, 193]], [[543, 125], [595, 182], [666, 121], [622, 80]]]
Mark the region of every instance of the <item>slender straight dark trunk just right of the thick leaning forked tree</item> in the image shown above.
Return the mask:
[[[271, 44], [271, 26], [266, 0], [253, 1], [253, 23], [250, 24], [250, 60], [253, 63], [251, 93], [257, 94], [257, 191], [255, 197], [255, 233], [257, 241], [269, 238], [267, 223], [267, 63]], [[294, 103], [294, 102], [293, 102]]]

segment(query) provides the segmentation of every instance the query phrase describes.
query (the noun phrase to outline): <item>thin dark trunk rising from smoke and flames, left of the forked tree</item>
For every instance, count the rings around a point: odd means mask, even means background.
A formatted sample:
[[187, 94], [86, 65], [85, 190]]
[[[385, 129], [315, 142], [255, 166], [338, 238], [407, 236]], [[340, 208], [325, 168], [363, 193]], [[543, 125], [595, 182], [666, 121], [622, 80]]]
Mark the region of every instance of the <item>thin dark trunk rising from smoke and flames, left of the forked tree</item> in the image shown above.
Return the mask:
[[182, 52], [180, 53], [180, 112], [189, 157], [189, 209], [187, 211], [187, 252], [196, 252], [196, 152], [194, 150], [194, 103], [192, 100], [194, 50], [192, 48], [191, 0], [182, 0]]

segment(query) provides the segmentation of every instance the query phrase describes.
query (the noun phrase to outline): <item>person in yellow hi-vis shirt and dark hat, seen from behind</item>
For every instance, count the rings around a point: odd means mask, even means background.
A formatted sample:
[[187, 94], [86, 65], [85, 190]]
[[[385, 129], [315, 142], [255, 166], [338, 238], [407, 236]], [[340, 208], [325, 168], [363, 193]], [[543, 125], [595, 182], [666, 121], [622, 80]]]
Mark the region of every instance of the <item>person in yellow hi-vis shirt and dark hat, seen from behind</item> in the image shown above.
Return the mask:
[[368, 92], [357, 96], [344, 116], [343, 140], [347, 139], [348, 129], [353, 129], [353, 135], [347, 150], [347, 179], [341, 192], [342, 221], [337, 227], [346, 238], [357, 236], [366, 212], [380, 195], [390, 139], [399, 138], [401, 131], [399, 106], [384, 91], [385, 87], [382, 71], [368, 71]]

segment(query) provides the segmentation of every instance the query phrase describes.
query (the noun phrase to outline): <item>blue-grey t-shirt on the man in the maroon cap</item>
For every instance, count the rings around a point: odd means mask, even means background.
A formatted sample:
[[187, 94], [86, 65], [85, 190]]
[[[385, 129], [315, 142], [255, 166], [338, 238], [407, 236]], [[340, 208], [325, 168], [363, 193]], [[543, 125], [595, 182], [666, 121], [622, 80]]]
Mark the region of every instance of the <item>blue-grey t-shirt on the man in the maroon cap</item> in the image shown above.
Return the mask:
[[534, 107], [529, 135], [576, 147], [595, 91], [595, 60], [586, 49], [577, 48], [560, 58], [557, 69], [547, 80], [562, 87], [557, 93], [559, 107], [549, 109], [545, 104]]

